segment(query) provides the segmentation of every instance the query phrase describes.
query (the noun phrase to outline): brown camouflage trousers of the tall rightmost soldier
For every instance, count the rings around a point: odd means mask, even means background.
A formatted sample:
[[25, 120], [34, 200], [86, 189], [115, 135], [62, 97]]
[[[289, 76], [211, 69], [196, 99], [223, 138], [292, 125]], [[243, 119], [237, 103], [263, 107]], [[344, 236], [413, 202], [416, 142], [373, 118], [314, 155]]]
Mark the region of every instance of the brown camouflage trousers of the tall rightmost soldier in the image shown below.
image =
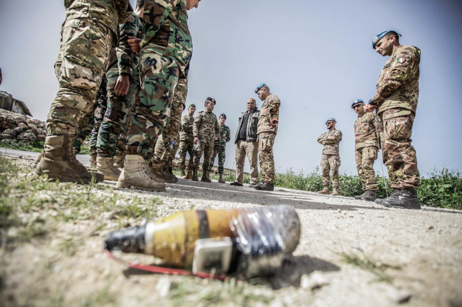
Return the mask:
[[417, 169], [415, 149], [410, 144], [415, 115], [410, 113], [391, 117], [397, 112], [400, 112], [400, 109], [390, 109], [379, 114], [383, 123], [381, 133], [383, 163], [387, 166], [391, 188], [418, 188], [420, 174]]

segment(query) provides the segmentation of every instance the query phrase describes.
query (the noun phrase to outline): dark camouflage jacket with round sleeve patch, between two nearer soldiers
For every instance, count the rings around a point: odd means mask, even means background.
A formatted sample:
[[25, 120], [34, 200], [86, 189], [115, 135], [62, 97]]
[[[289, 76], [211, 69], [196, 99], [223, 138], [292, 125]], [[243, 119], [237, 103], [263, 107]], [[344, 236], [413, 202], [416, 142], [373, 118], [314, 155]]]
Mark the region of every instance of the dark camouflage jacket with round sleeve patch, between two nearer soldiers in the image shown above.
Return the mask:
[[112, 48], [109, 56], [107, 70], [118, 67], [119, 75], [129, 75], [139, 78], [138, 64], [140, 55], [133, 52], [128, 45], [128, 36], [141, 38], [142, 23], [141, 19], [135, 13], [128, 16], [127, 22], [120, 24], [120, 40], [117, 48]]

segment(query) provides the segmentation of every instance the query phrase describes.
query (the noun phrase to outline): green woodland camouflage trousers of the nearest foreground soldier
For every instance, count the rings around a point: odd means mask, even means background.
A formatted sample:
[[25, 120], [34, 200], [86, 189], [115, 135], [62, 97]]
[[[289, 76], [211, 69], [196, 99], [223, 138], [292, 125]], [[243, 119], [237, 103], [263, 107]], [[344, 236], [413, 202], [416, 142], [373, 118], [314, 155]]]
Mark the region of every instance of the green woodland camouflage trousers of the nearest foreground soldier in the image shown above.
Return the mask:
[[154, 52], [150, 44], [142, 48], [140, 61], [140, 104], [128, 128], [127, 154], [147, 157], [167, 126], [179, 68], [171, 58]]

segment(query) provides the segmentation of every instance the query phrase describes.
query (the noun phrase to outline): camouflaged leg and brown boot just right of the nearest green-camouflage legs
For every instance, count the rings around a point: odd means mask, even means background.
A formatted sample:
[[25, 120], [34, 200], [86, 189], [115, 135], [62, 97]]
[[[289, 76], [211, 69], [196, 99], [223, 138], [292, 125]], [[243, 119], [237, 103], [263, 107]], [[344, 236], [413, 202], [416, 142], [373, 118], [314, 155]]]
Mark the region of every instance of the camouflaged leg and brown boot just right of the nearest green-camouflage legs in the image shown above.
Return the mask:
[[[175, 144], [177, 143], [179, 126], [181, 125], [181, 113], [183, 113], [187, 95], [188, 81], [186, 78], [180, 78], [173, 94], [172, 109], [167, 127], [162, 130], [156, 142], [154, 156], [151, 159], [151, 171], [156, 177], [165, 180], [165, 182], [178, 181], [178, 178], [170, 172], [169, 165], [173, 160], [172, 152], [176, 151]], [[174, 142], [172, 146], [170, 146], [171, 142]]]

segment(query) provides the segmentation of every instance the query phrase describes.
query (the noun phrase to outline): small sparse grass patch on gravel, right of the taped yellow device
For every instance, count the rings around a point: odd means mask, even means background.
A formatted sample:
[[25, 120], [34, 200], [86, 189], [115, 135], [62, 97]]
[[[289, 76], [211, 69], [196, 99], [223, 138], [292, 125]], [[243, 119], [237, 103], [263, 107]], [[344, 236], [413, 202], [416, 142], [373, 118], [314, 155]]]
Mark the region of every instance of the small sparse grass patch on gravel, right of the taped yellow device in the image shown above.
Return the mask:
[[377, 278], [374, 281], [383, 281], [391, 284], [393, 283], [393, 278], [390, 275], [388, 275], [385, 271], [388, 269], [401, 270], [400, 266], [393, 266], [386, 263], [378, 264], [377, 261], [374, 261], [371, 257], [366, 256], [363, 252], [361, 252], [361, 254], [347, 254], [345, 252], [342, 252], [340, 253], [340, 257], [345, 263], [357, 266], [377, 276]]

